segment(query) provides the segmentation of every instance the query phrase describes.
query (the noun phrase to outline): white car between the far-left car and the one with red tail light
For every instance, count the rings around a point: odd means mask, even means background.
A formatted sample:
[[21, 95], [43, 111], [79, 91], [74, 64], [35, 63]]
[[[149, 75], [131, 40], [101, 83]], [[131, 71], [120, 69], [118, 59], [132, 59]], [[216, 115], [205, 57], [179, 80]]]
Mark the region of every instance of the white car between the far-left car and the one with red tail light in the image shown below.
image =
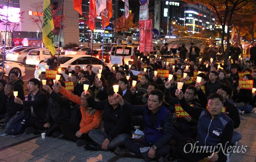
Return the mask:
[[7, 61], [15, 61], [26, 64], [26, 56], [33, 47], [20, 47], [11, 51], [6, 52]]

